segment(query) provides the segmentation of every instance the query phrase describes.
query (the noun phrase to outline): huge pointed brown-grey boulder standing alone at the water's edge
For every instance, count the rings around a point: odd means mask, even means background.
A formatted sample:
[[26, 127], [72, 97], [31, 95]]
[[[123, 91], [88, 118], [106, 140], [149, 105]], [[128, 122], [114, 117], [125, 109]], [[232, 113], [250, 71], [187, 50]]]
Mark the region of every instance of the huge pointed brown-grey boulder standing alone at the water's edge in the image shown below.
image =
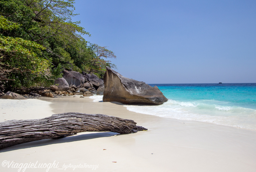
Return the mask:
[[132, 105], [161, 105], [167, 98], [157, 86], [126, 78], [107, 67], [104, 74], [104, 102], [120, 102]]

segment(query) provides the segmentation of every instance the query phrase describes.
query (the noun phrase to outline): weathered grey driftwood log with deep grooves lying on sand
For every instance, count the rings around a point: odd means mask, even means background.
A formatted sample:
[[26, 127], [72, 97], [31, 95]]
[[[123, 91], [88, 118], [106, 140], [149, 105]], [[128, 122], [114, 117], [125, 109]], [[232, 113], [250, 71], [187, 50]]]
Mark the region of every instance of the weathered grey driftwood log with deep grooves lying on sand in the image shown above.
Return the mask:
[[63, 113], [43, 119], [0, 122], [0, 149], [47, 138], [63, 138], [86, 131], [120, 134], [147, 130], [136, 122], [101, 114]]

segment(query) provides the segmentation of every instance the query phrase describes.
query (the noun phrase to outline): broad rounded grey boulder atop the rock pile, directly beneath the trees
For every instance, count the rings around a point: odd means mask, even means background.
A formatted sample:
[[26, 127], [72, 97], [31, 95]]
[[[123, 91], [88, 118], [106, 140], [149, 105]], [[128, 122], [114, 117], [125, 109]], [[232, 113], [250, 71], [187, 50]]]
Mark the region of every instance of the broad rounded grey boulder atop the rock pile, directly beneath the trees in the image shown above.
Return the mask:
[[63, 70], [63, 78], [66, 79], [68, 85], [75, 85], [80, 88], [84, 85], [84, 76], [79, 72]]

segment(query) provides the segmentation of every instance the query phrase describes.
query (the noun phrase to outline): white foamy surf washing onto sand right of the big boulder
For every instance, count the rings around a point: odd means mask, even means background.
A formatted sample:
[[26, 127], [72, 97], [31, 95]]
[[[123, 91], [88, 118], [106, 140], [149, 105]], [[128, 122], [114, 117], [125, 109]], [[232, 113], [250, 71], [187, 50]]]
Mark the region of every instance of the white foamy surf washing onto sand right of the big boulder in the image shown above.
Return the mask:
[[[207, 101], [207, 103], [209, 103], [209, 101]], [[177, 102], [169, 99], [163, 105], [159, 106], [125, 105], [125, 107], [129, 111], [142, 114], [181, 120], [210, 122], [219, 125], [256, 130], [256, 110], [207, 103], [205, 101]]]

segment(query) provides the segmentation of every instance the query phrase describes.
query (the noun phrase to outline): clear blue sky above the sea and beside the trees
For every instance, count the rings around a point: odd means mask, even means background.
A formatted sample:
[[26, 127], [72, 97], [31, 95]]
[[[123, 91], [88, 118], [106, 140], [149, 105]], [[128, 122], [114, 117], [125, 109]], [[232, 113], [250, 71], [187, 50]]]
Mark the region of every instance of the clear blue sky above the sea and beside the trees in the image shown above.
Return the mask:
[[148, 84], [256, 83], [255, 0], [75, 0], [83, 37]]

